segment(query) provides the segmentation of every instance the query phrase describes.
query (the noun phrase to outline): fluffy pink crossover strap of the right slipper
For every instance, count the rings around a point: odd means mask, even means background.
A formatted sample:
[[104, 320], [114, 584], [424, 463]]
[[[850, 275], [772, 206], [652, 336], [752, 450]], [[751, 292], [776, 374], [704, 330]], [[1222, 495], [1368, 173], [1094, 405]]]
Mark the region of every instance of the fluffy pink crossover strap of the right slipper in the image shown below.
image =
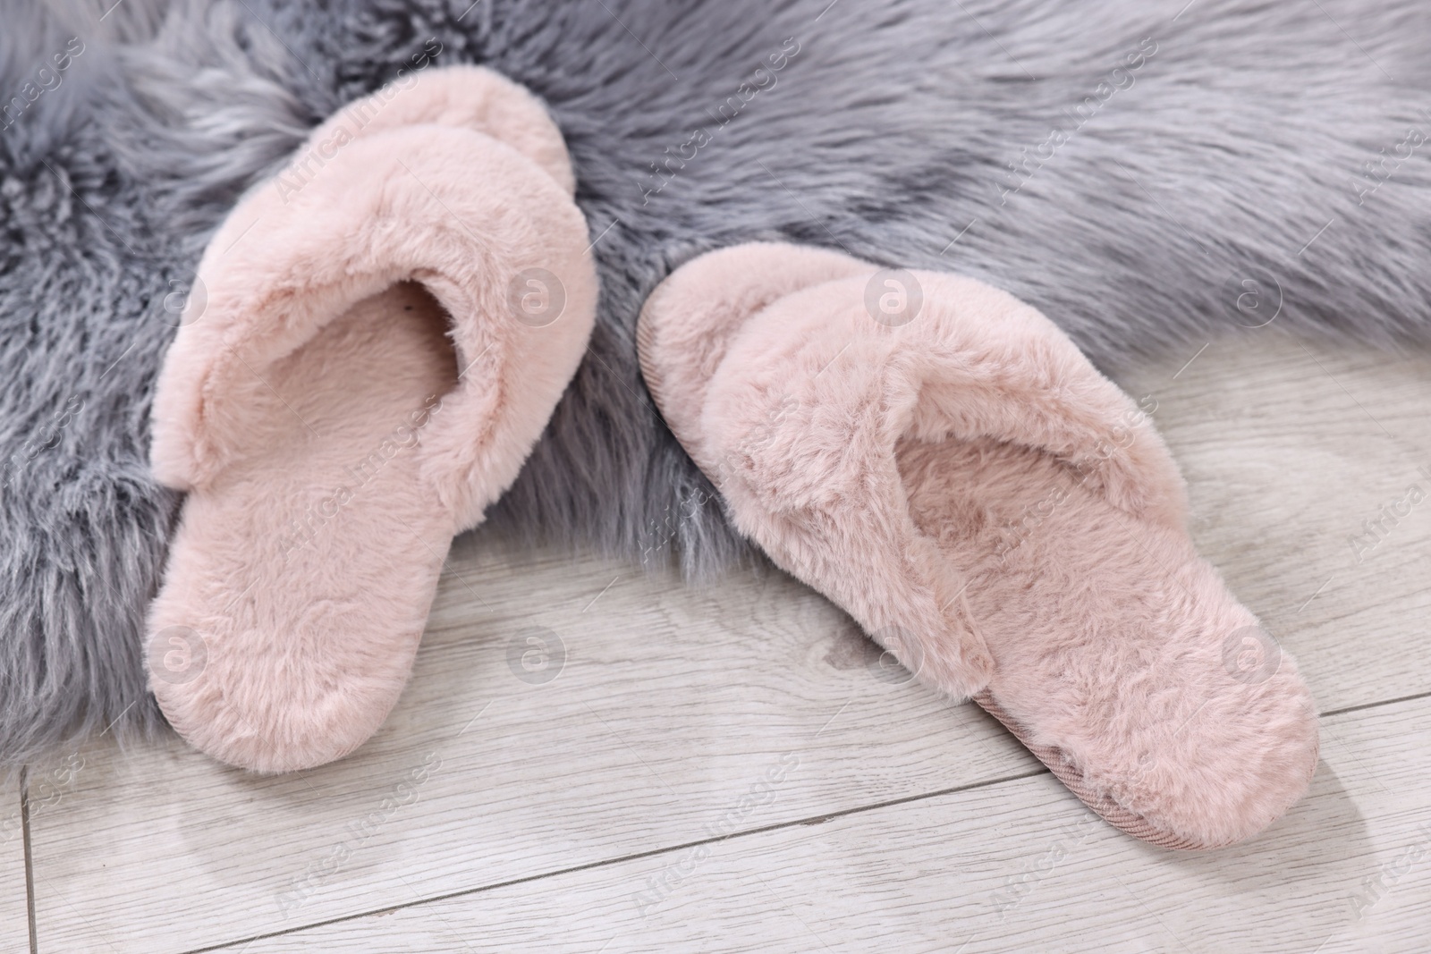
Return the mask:
[[1179, 529], [1185, 489], [1145, 415], [1035, 309], [919, 272], [920, 312], [894, 328], [867, 306], [873, 277], [794, 290], [744, 322], [694, 432], [744, 533], [924, 681], [967, 697], [993, 662], [964, 581], [910, 518], [900, 442], [1043, 449], [1123, 512]]

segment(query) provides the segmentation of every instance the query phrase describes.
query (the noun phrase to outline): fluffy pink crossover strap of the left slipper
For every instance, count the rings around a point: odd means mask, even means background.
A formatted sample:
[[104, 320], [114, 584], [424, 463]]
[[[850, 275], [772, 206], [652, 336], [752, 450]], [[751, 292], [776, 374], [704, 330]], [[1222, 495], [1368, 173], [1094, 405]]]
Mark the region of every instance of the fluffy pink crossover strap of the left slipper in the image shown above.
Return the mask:
[[[210, 243], [199, 266], [203, 310], [166, 359], [155, 399], [165, 422], [155, 432], [156, 473], [193, 489], [222, 472], [246, 445], [243, 395], [265, 386], [269, 365], [355, 303], [418, 280], [452, 319], [461, 369], [444, 399], [452, 413], [424, 439], [445, 471], [442, 502], [461, 525], [475, 523], [527, 451], [494, 448], [508, 446], [508, 433], [539, 433], [584, 343], [514, 315], [514, 289], [544, 283], [552, 320], [564, 312], [590, 322], [597, 280], [587, 242], [561, 185], [467, 129], [378, 132], [345, 146], [296, 192], [253, 193]], [[509, 368], [527, 370], [502, 373]], [[454, 469], [462, 481], [446, 478]]]

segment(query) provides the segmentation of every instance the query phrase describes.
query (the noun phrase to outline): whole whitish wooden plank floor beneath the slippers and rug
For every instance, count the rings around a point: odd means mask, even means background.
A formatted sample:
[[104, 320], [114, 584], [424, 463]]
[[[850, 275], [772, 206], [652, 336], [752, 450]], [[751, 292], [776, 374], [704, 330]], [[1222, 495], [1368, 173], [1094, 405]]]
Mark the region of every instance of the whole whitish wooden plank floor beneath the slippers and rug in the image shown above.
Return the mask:
[[688, 589], [477, 533], [343, 762], [250, 778], [92, 742], [0, 790], [0, 950], [1431, 950], [1431, 496], [1349, 542], [1431, 495], [1431, 355], [1275, 328], [1193, 350], [1120, 383], [1324, 712], [1311, 795], [1252, 844], [1092, 820], [778, 574]]

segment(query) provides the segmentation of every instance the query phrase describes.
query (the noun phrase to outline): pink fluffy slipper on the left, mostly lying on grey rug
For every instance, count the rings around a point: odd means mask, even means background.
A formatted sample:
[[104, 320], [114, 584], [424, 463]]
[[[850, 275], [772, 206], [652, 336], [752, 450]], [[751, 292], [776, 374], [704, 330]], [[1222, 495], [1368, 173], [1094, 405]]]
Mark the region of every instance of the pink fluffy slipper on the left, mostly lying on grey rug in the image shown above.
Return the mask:
[[187, 491], [150, 685], [195, 747], [301, 769], [368, 739], [452, 536], [515, 479], [597, 277], [557, 127], [479, 69], [359, 100], [215, 235], [160, 375]]

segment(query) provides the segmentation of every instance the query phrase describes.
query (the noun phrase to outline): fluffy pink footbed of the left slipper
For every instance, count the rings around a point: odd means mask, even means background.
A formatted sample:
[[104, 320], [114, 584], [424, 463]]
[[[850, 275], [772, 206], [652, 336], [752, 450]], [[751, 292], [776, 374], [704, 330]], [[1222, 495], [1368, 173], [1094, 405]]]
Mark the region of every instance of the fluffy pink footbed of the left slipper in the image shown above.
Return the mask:
[[455, 522], [419, 466], [456, 383], [446, 329], [431, 295], [399, 283], [233, 395], [245, 445], [186, 498], [152, 611], [152, 632], [202, 639], [197, 665], [180, 659], [196, 671], [152, 659], [197, 748], [289, 771], [351, 752], [391, 711]]

